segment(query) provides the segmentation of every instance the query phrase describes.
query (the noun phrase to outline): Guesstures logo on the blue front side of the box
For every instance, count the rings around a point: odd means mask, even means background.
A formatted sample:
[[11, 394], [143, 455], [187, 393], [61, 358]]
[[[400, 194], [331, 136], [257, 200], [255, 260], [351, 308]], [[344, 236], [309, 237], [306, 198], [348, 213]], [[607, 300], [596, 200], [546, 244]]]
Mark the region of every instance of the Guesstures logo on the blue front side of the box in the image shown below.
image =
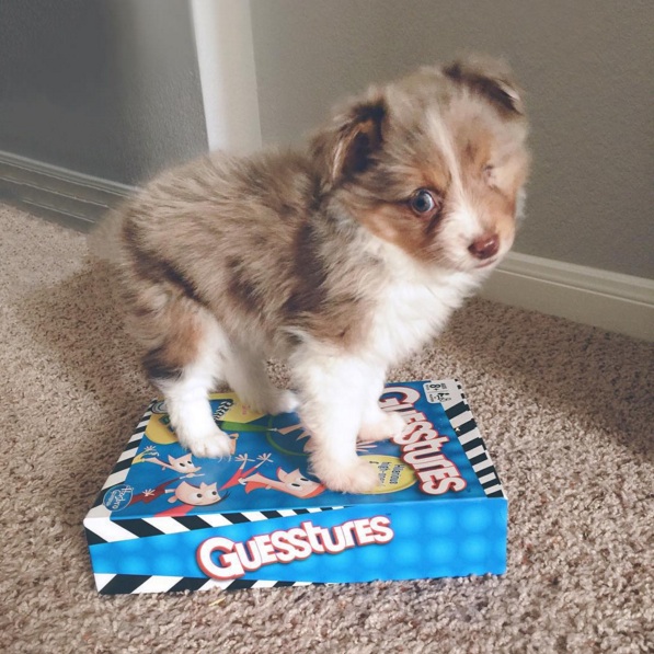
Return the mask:
[[331, 528], [305, 521], [299, 527], [262, 533], [245, 542], [215, 536], [197, 548], [196, 558], [207, 576], [236, 580], [272, 563], [291, 563], [312, 554], [339, 554], [354, 547], [385, 544], [394, 536], [390, 523], [385, 516], [347, 520]]

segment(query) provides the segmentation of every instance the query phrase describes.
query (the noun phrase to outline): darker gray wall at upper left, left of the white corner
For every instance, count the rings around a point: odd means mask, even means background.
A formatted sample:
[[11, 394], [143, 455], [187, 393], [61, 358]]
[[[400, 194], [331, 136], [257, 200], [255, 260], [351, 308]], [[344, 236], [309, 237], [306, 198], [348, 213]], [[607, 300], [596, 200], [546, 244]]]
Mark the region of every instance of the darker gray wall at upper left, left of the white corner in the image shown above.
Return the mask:
[[135, 184], [207, 149], [183, 0], [0, 0], [0, 150]]

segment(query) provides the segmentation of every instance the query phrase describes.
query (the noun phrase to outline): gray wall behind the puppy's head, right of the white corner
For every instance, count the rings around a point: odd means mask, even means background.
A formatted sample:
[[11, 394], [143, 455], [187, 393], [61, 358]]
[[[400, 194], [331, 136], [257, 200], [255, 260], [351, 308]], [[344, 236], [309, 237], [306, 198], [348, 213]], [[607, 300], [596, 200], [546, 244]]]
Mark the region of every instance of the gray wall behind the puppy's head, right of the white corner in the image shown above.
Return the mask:
[[264, 142], [297, 142], [368, 81], [468, 50], [528, 90], [527, 254], [654, 278], [651, 0], [252, 0]]

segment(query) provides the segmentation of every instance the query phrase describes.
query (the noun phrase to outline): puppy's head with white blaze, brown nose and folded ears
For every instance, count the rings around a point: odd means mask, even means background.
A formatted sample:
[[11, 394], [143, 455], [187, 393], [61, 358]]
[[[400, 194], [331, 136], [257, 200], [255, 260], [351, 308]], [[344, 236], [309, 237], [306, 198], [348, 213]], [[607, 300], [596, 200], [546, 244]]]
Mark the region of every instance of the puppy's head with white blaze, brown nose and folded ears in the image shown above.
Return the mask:
[[328, 202], [423, 264], [475, 271], [513, 244], [526, 137], [509, 71], [469, 60], [369, 89], [311, 147]]

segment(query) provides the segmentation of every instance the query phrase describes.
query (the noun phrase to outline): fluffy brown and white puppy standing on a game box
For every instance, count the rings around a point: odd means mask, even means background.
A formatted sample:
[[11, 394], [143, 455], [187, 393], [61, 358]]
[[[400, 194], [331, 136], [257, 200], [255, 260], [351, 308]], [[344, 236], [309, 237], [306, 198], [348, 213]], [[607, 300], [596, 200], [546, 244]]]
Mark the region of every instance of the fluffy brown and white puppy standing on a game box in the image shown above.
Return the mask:
[[[180, 443], [227, 457], [208, 391], [297, 409], [313, 472], [365, 492], [357, 438], [389, 438], [389, 366], [424, 346], [510, 248], [529, 154], [502, 64], [425, 68], [369, 89], [297, 153], [211, 154], [121, 214], [131, 328]], [[297, 395], [274, 388], [267, 357]]]

